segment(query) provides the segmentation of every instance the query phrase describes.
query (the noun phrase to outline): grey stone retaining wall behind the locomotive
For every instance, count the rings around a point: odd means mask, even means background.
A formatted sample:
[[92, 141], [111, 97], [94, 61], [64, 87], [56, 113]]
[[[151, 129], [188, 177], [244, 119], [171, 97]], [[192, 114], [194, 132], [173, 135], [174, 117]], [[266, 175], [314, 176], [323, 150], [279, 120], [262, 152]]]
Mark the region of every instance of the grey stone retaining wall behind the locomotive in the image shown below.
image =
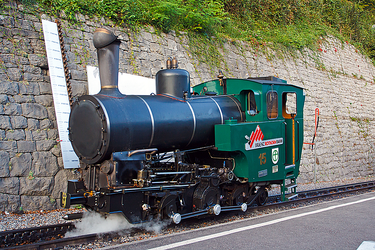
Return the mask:
[[[0, 16], [0, 211], [51, 209], [66, 180], [77, 176], [63, 169], [40, 19], [22, 5]], [[154, 77], [175, 55], [195, 85], [215, 77], [193, 58], [185, 34], [129, 32], [103, 18], [77, 16], [80, 24], [63, 21], [65, 48], [75, 97], [87, 93], [86, 65], [97, 65], [92, 33], [105, 27], [119, 36], [120, 71]], [[306, 88], [305, 142], [314, 133], [320, 108], [317, 178], [347, 179], [373, 175], [375, 168], [375, 67], [353, 45], [324, 37], [317, 51], [263, 54], [236, 41], [220, 49], [227, 77], [275, 75]], [[216, 70], [218, 71], [218, 69]], [[299, 182], [313, 178], [314, 154], [304, 146]]]

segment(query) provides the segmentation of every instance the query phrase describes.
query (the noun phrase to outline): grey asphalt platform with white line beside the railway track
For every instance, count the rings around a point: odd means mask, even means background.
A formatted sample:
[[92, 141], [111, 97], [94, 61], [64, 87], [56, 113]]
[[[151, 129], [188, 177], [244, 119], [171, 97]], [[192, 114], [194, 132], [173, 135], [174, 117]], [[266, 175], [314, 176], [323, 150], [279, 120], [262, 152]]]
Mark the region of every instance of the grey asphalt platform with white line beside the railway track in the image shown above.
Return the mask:
[[363, 241], [375, 241], [374, 219], [372, 192], [104, 249], [356, 250]]

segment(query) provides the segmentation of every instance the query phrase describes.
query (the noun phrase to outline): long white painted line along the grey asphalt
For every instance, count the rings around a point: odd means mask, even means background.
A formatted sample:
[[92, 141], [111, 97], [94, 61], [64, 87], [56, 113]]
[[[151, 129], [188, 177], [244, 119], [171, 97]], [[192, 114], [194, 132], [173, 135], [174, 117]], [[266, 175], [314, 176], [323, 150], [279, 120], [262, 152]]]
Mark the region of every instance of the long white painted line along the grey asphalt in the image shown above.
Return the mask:
[[345, 206], [348, 206], [348, 205], [353, 205], [353, 204], [357, 204], [357, 203], [364, 202], [364, 201], [370, 201], [370, 200], [374, 200], [374, 199], [375, 199], [375, 196], [370, 197], [370, 198], [366, 198], [366, 199], [362, 199], [362, 200], [358, 200], [358, 201], [352, 201], [352, 202], [340, 204], [340, 205], [334, 205], [334, 206], [331, 206], [331, 207], [322, 208], [322, 209], [318, 209], [318, 210], [311, 211], [311, 212], [287, 216], [287, 217], [276, 219], [276, 220], [270, 220], [269, 222], [263, 222], [263, 223], [259, 223], [259, 224], [255, 224], [255, 225], [251, 225], [251, 226], [244, 226], [242, 228], [236, 228], [236, 229], [224, 231], [224, 232], [217, 233], [217, 234], [211, 234], [211, 235], [206, 235], [206, 236], [202, 236], [202, 237], [198, 237], [198, 238], [194, 238], [194, 239], [190, 239], [190, 240], [180, 241], [180, 242], [177, 242], [177, 243], [172, 243], [172, 244], [168, 244], [168, 245], [161, 246], [161, 247], [154, 247], [154, 248], [147, 249], [147, 250], [167, 250], [167, 249], [171, 249], [171, 248], [174, 248], [174, 247], [185, 246], [185, 245], [189, 245], [189, 244], [196, 243], [196, 242], [199, 242], [199, 241], [210, 240], [210, 239], [213, 239], [213, 238], [216, 238], [216, 237], [221, 237], [221, 236], [225, 236], [225, 235], [228, 235], [228, 234], [234, 234], [234, 233], [242, 232], [242, 231], [253, 229], [253, 228], [260, 228], [262, 226], [268, 226], [268, 225], [272, 225], [272, 224], [275, 224], [275, 223], [284, 222], [285, 220], [299, 218], [299, 217], [303, 217], [303, 216], [310, 215], [310, 214], [317, 214], [317, 213], [332, 210], [332, 209], [335, 209], [335, 208], [345, 207]]

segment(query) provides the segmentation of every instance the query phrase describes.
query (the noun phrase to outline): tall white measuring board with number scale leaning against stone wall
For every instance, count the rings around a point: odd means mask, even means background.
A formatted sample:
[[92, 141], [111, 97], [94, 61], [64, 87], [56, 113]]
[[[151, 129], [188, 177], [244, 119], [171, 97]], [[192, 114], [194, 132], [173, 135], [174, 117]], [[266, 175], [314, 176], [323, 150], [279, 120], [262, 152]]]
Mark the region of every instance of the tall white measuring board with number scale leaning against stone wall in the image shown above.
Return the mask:
[[66, 88], [57, 24], [42, 19], [42, 25], [64, 168], [79, 168], [80, 160], [78, 160], [77, 155], [73, 151], [72, 144], [68, 139], [69, 114], [71, 108], [69, 105], [68, 89]]

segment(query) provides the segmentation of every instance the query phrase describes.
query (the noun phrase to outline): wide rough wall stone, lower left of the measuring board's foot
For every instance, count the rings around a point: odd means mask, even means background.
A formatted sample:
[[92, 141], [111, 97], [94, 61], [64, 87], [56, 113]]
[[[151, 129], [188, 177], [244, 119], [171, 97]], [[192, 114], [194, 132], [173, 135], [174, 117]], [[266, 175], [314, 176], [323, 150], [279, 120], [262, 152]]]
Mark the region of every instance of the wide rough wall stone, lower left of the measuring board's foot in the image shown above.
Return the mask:
[[54, 177], [20, 177], [20, 195], [51, 195]]

